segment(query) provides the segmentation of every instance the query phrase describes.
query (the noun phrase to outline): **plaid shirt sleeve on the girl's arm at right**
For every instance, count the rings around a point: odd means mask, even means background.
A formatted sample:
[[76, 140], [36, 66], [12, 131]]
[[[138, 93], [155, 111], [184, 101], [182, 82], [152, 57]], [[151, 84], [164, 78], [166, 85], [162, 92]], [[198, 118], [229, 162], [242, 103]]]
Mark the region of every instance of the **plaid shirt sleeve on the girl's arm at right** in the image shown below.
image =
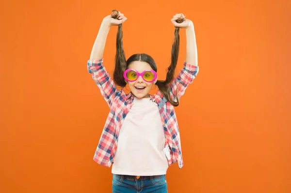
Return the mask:
[[183, 96], [185, 90], [191, 84], [199, 72], [199, 67], [194, 66], [190, 63], [184, 62], [184, 67], [181, 69], [178, 76], [175, 80], [170, 84], [170, 96], [171, 98], [176, 99], [176, 90], [178, 90], [178, 98], [180, 99]]

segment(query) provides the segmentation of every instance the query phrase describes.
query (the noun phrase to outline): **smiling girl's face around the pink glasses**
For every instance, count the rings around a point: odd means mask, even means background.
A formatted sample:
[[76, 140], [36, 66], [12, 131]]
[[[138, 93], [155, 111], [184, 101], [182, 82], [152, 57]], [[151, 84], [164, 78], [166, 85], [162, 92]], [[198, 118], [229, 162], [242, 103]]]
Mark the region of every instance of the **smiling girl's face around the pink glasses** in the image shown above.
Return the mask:
[[[139, 73], [143, 73], [145, 70], [152, 70], [150, 65], [144, 61], [133, 61], [129, 64], [130, 69], [134, 69]], [[158, 79], [158, 78], [157, 78]], [[134, 82], [127, 82], [129, 89], [134, 96], [137, 98], [146, 98], [148, 97], [148, 92], [151, 90], [152, 86], [156, 84], [157, 79], [154, 82], [146, 82], [142, 76], [139, 76]], [[143, 87], [138, 89], [137, 87]]]

